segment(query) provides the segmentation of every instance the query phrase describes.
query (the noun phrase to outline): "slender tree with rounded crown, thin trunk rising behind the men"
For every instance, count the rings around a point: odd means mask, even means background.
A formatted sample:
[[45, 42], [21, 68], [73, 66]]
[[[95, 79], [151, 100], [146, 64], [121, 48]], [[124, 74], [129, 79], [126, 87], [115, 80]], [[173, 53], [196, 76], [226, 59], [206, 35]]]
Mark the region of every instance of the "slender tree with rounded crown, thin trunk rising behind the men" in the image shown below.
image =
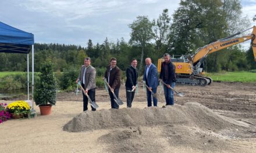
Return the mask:
[[143, 65], [144, 48], [147, 42], [150, 42], [153, 38], [152, 23], [147, 16], [137, 16], [137, 19], [133, 23], [129, 24], [131, 28], [131, 43], [136, 43], [141, 47], [140, 68], [138, 75], [140, 75]]

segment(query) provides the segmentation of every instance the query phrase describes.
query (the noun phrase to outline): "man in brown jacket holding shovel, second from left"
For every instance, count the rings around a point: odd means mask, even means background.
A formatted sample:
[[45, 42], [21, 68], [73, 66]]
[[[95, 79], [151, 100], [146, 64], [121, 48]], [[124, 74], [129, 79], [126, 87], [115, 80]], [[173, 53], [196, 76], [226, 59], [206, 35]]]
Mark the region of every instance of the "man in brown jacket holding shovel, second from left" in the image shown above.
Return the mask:
[[[112, 57], [110, 60], [110, 65], [106, 68], [105, 76], [106, 81], [111, 86], [111, 89], [108, 89], [108, 93], [111, 99], [111, 108], [118, 109], [119, 105], [115, 103], [113, 93], [115, 93], [116, 97], [119, 96], [119, 88], [121, 85], [121, 70], [118, 66], [116, 66], [116, 58]], [[112, 92], [111, 92], [112, 91]]]

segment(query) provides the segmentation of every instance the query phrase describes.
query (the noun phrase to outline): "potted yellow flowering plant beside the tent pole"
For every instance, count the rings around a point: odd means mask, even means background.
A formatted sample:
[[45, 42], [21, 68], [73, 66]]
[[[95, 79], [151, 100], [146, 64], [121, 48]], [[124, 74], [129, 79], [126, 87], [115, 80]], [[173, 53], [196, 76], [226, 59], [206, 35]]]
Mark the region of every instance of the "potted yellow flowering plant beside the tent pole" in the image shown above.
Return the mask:
[[23, 118], [24, 115], [30, 115], [30, 105], [26, 101], [14, 101], [7, 105], [8, 112], [12, 118]]

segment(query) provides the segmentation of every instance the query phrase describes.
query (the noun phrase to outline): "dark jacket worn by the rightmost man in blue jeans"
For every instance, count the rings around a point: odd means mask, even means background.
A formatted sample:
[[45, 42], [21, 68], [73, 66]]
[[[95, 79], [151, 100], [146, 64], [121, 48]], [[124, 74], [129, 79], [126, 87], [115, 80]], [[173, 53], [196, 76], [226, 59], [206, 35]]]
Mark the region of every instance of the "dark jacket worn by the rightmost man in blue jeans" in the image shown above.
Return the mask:
[[[165, 79], [165, 75], [166, 75], [166, 71], [165, 71], [165, 67], [167, 66], [167, 79]], [[163, 80], [163, 82], [167, 83], [167, 84], [172, 84], [172, 82], [176, 82], [176, 75], [175, 75], [175, 65], [172, 64], [172, 62], [165, 64], [165, 62], [163, 62], [161, 64], [161, 72], [160, 72], [160, 79]]]

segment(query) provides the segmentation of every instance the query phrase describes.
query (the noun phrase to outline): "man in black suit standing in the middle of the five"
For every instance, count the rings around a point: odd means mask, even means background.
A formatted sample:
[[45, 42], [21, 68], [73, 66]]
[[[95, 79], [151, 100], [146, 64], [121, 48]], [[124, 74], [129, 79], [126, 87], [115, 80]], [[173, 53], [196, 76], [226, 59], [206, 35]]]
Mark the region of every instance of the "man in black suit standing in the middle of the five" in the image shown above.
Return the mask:
[[[129, 68], [126, 69], [126, 99], [127, 99], [127, 108], [131, 107], [131, 103], [133, 102], [137, 80], [138, 80], [138, 73], [137, 73], [137, 60], [132, 59], [131, 65]], [[128, 92], [127, 90], [133, 90], [133, 92]]]

